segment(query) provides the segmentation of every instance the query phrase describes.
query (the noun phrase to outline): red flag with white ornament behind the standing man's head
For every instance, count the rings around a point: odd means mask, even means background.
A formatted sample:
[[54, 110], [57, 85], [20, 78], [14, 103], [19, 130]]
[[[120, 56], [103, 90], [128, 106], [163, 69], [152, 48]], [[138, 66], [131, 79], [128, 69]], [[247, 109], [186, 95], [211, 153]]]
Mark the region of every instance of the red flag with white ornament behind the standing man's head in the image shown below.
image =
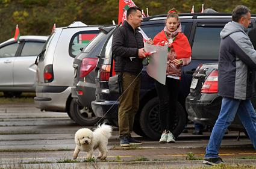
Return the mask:
[[[126, 12], [130, 7], [137, 7], [132, 0], [119, 0], [118, 24], [126, 20]], [[145, 13], [142, 12], [142, 17]]]

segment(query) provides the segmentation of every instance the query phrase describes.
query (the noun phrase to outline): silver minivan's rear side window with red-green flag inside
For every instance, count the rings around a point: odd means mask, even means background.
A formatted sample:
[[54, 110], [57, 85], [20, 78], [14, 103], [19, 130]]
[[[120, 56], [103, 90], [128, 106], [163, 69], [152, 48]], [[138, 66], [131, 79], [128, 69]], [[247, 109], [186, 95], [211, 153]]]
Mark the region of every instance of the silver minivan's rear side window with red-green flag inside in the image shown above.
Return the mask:
[[88, 43], [96, 37], [99, 31], [82, 31], [77, 32], [70, 40], [69, 54], [72, 57], [80, 54]]

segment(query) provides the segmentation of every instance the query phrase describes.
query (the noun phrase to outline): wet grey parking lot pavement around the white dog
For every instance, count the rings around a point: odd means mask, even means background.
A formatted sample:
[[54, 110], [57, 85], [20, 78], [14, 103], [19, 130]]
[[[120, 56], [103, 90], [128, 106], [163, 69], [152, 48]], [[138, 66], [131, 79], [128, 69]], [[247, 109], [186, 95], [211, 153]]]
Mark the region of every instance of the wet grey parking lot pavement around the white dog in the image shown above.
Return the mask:
[[[62, 112], [41, 112], [33, 102], [4, 103], [0, 105], [0, 168], [6, 165], [63, 165], [79, 167], [86, 162], [86, 153], [81, 152], [76, 161], [72, 160], [75, 132], [81, 128], [67, 114]], [[108, 166], [139, 162], [140, 165], [158, 166], [201, 166], [210, 132], [204, 135], [181, 134], [175, 144], [159, 144], [139, 137], [142, 146], [123, 149], [119, 147], [118, 129], [113, 128], [113, 136], [108, 144], [107, 161], [97, 164]], [[88, 127], [91, 128], [91, 127]], [[220, 156], [228, 164], [255, 164], [256, 153], [251, 141], [238, 132], [225, 135]], [[98, 155], [95, 151], [94, 156]], [[87, 164], [88, 165], [88, 164]]]

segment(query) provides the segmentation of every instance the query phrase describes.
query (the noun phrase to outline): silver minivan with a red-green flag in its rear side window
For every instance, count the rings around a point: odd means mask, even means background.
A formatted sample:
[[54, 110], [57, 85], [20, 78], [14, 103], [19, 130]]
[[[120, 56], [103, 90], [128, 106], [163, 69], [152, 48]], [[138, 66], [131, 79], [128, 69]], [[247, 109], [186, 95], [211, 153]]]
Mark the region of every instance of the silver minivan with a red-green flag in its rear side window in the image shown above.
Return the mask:
[[38, 84], [34, 97], [37, 108], [67, 112], [70, 118], [76, 114], [83, 114], [87, 125], [98, 121], [98, 118], [92, 115], [92, 111], [78, 106], [71, 97], [73, 58], [80, 54], [98, 33], [99, 26], [87, 26], [82, 22], [73, 22], [67, 27], [55, 29], [38, 60]]

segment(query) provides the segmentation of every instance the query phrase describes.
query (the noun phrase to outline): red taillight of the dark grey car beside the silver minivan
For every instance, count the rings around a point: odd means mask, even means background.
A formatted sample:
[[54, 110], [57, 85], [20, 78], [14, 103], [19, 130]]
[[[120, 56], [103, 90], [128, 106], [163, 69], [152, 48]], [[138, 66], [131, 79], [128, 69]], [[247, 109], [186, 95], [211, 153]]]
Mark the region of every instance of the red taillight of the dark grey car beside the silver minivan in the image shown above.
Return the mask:
[[83, 58], [80, 67], [80, 78], [83, 78], [84, 76], [92, 72], [92, 70], [95, 69], [97, 63], [98, 58]]

